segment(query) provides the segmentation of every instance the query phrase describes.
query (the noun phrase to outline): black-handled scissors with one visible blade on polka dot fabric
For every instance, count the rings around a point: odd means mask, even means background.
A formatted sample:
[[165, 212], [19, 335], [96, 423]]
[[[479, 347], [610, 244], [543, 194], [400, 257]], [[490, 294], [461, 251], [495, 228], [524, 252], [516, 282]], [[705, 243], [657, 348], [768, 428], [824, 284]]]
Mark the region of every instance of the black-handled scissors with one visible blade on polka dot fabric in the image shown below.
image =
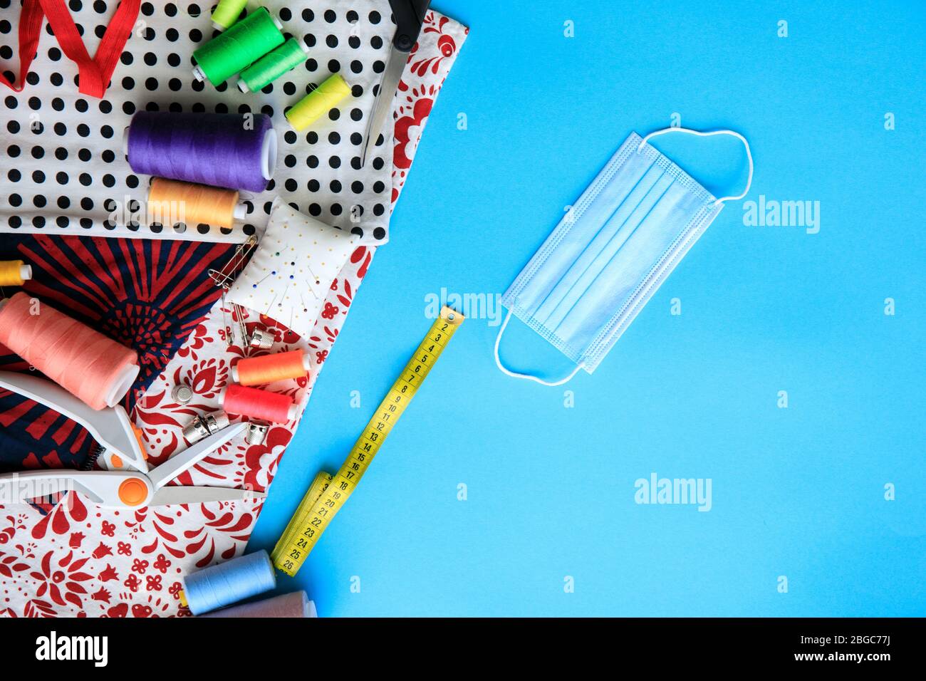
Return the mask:
[[395, 17], [395, 35], [393, 36], [393, 49], [389, 53], [389, 61], [382, 72], [380, 91], [376, 95], [376, 105], [369, 117], [367, 126], [367, 142], [363, 147], [361, 165], [366, 165], [367, 156], [371, 147], [380, 139], [382, 125], [386, 117], [392, 113], [393, 97], [402, 78], [408, 61], [408, 53], [418, 41], [424, 15], [431, 5], [431, 0], [389, 0]]

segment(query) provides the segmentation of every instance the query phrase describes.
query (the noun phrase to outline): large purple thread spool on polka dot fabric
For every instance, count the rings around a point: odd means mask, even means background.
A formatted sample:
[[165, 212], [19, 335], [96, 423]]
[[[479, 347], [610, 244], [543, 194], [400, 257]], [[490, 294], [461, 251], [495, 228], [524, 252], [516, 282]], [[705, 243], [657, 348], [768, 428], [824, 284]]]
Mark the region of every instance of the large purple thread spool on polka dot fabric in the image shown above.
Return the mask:
[[263, 192], [277, 162], [266, 114], [139, 111], [126, 128], [132, 172]]

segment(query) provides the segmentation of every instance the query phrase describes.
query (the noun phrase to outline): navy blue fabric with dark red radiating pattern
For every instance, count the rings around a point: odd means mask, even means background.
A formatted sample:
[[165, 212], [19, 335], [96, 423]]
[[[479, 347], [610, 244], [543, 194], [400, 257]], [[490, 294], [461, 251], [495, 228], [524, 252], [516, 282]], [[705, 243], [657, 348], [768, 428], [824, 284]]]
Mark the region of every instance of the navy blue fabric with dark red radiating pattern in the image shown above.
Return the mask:
[[[4, 234], [0, 259], [31, 264], [23, 290], [138, 352], [135, 398], [163, 371], [219, 297], [208, 276], [234, 246], [194, 241]], [[17, 289], [7, 289], [10, 296]], [[0, 369], [30, 371], [0, 346]], [[0, 390], [0, 473], [79, 468], [92, 438], [54, 410]]]

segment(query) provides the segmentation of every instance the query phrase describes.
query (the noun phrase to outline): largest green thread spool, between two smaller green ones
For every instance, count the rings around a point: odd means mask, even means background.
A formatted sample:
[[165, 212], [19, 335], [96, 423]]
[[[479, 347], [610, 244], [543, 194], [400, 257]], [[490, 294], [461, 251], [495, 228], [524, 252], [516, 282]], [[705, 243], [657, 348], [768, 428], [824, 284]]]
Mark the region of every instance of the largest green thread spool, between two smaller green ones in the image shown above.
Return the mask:
[[197, 81], [208, 78], [220, 85], [270, 50], [283, 44], [282, 24], [264, 7], [238, 21], [228, 31], [217, 35], [193, 53]]

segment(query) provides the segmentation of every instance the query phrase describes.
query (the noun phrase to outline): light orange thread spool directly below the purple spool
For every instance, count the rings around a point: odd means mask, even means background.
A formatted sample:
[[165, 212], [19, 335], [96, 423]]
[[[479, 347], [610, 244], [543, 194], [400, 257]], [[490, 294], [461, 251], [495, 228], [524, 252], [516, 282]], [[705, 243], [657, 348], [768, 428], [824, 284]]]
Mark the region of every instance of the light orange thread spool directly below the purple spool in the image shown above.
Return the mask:
[[229, 228], [234, 221], [243, 221], [247, 216], [247, 208], [238, 203], [238, 192], [234, 189], [163, 177], [156, 177], [148, 189], [147, 212], [149, 221], [161, 224], [183, 222]]

